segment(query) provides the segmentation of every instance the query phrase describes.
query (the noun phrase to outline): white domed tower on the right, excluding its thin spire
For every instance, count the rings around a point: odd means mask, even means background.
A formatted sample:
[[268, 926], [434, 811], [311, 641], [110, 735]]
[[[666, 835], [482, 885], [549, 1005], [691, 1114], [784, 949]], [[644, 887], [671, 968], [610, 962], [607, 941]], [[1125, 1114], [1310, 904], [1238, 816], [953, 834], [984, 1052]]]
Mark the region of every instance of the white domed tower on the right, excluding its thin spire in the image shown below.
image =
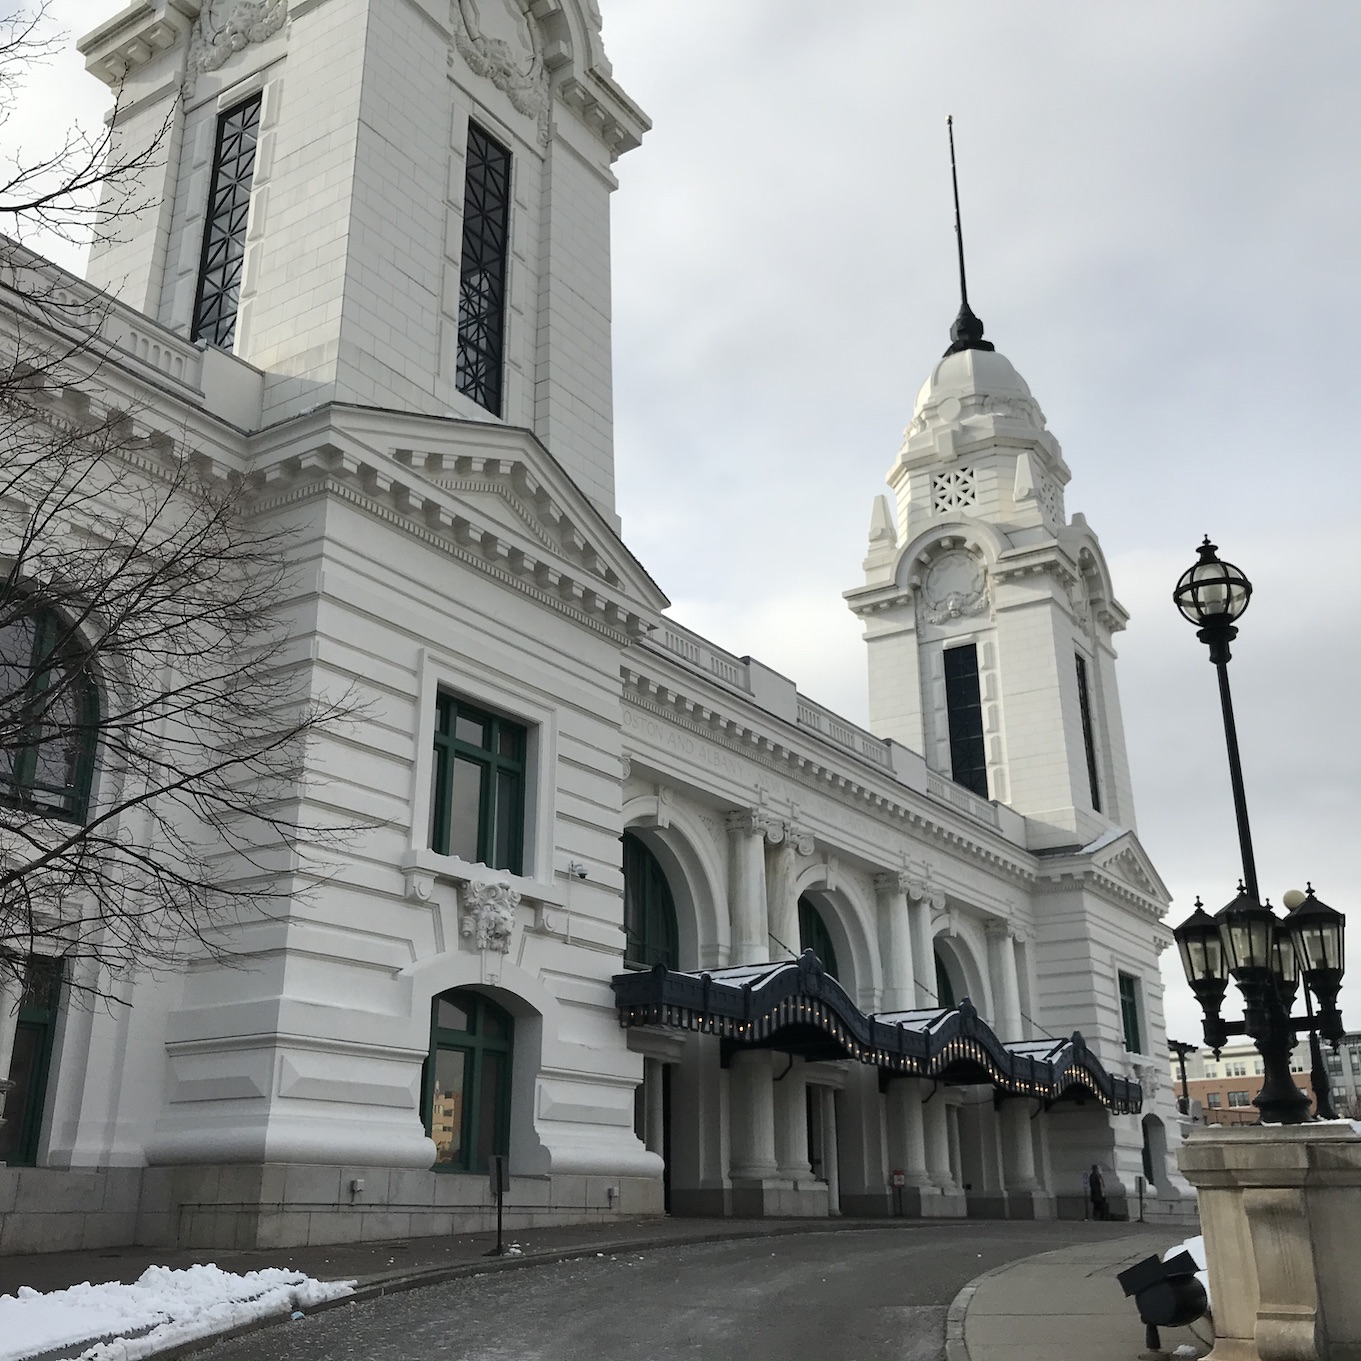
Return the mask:
[[1030, 819], [1034, 848], [1134, 827], [1116, 602], [1068, 465], [968, 302], [878, 497], [864, 585], [870, 725]]

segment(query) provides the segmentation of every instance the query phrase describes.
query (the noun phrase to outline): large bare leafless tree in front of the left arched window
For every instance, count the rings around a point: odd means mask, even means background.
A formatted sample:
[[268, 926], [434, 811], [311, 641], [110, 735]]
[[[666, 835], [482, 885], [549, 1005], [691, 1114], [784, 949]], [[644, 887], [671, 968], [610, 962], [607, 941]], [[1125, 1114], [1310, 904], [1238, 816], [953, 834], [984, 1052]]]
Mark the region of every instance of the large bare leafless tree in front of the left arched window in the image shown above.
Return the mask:
[[298, 822], [306, 743], [348, 709], [305, 693], [248, 485], [67, 400], [0, 387], [0, 974], [108, 977], [295, 890], [336, 834]]

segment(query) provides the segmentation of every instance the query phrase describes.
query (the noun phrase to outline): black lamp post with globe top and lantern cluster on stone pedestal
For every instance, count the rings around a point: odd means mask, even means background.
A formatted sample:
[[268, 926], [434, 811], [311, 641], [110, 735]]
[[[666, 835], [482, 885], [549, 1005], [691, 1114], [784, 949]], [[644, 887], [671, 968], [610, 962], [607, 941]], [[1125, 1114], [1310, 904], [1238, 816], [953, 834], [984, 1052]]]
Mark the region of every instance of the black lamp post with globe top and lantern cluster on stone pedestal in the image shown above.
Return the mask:
[[[1195, 911], [1173, 935], [1187, 983], [1204, 1013], [1206, 1045], [1218, 1056], [1230, 1036], [1247, 1034], [1256, 1043], [1263, 1081], [1253, 1105], [1263, 1123], [1300, 1124], [1309, 1119], [1309, 1098], [1290, 1075], [1297, 1032], [1309, 1034], [1311, 1079], [1319, 1116], [1332, 1119], [1319, 1037], [1322, 1034], [1337, 1051], [1345, 1033], [1338, 1010], [1345, 921], [1341, 912], [1313, 896], [1312, 885], [1307, 893], [1292, 890], [1285, 894], [1282, 901], [1289, 909], [1285, 917], [1278, 917], [1258, 890], [1239, 734], [1229, 693], [1229, 644], [1239, 636], [1237, 621], [1252, 597], [1252, 583], [1232, 563], [1221, 562], [1217, 553], [1207, 538], [1200, 544], [1199, 561], [1177, 583], [1173, 600], [1181, 614], [1196, 625], [1196, 637], [1210, 648], [1210, 661], [1219, 675], [1243, 879], [1237, 897], [1214, 916], [1196, 898]], [[1243, 1021], [1239, 1022], [1219, 1015], [1230, 977], [1243, 994]], [[1301, 984], [1305, 1015], [1293, 1017], [1290, 1013]], [[1319, 1003], [1317, 1017], [1311, 994]]]

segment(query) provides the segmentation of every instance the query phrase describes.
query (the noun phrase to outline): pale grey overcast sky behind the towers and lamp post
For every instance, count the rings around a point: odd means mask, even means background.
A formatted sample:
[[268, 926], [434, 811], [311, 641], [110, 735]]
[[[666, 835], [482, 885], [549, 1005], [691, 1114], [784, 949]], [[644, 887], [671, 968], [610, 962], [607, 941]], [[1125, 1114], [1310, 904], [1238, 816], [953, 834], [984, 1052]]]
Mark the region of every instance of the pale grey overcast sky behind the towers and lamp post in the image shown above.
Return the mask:
[[[57, 5], [75, 31], [118, 8]], [[1256, 585], [1232, 678], [1263, 891], [1312, 879], [1350, 913], [1361, 5], [602, 8], [655, 124], [617, 166], [619, 509], [672, 614], [864, 721], [841, 592], [958, 306], [953, 113], [970, 301], [1132, 615], [1121, 701], [1172, 920], [1239, 875], [1214, 672], [1170, 604], [1206, 532]], [[5, 140], [103, 103], [56, 63]], [[1164, 965], [1169, 1030], [1198, 1041]], [[1361, 1029], [1357, 981], [1343, 1000]]]

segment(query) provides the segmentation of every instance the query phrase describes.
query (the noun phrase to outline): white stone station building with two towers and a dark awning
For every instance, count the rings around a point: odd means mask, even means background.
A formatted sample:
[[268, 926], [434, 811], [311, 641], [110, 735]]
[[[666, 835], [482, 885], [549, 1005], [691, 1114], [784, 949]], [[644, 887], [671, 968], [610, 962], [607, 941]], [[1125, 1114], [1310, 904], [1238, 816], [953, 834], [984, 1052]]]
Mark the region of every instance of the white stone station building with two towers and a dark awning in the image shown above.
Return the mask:
[[648, 121], [595, 0], [137, 0], [80, 46], [118, 137], [169, 137], [72, 384], [304, 531], [310, 683], [373, 717], [298, 796], [372, 826], [245, 969], [10, 999], [0, 1248], [449, 1232], [502, 1151], [510, 1224], [1081, 1215], [1092, 1164], [1179, 1213], [1124, 612], [981, 325], [847, 592], [863, 731], [619, 538], [610, 167]]

